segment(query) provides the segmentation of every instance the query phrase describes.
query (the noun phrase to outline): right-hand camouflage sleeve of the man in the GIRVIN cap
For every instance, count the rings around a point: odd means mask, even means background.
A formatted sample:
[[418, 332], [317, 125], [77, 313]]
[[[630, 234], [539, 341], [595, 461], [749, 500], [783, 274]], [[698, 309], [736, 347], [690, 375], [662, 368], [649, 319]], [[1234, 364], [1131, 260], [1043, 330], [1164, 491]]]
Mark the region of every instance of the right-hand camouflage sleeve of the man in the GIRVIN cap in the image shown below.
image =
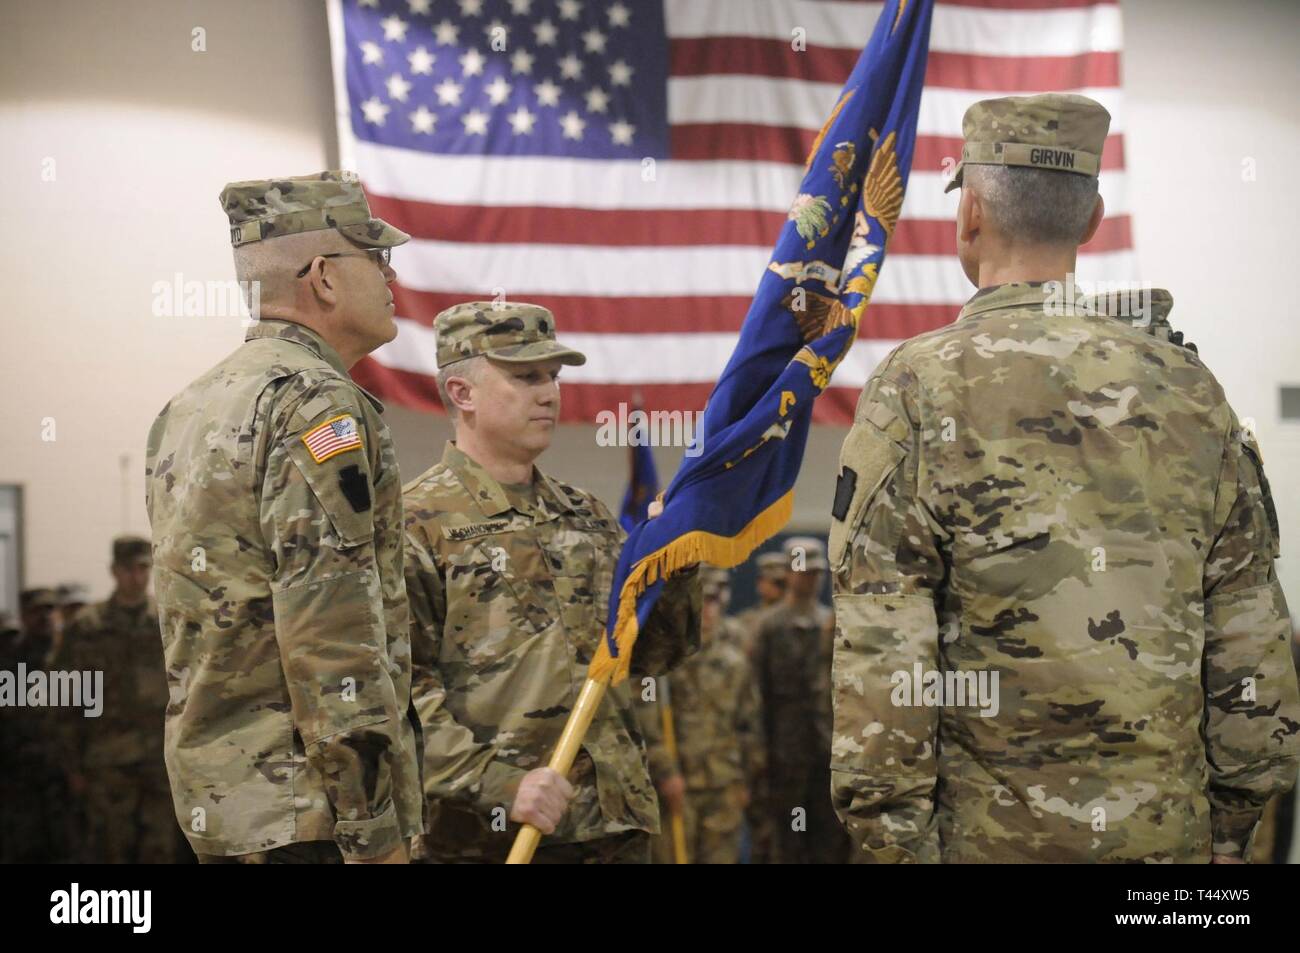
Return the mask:
[[1245, 857], [1260, 814], [1295, 784], [1300, 699], [1273, 560], [1277, 512], [1253, 437], [1232, 417], [1205, 560], [1205, 751], [1214, 853]]

